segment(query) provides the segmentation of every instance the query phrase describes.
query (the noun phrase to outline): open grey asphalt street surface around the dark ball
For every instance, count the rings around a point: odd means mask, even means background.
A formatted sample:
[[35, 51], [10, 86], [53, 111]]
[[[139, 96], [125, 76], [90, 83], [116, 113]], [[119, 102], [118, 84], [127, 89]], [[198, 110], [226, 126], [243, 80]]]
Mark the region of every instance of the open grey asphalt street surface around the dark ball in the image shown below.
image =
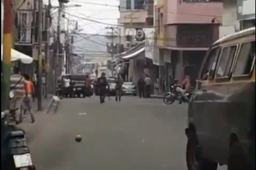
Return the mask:
[[186, 170], [186, 105], [65, 98], [56, 114], [23, 126], [38, 170]]

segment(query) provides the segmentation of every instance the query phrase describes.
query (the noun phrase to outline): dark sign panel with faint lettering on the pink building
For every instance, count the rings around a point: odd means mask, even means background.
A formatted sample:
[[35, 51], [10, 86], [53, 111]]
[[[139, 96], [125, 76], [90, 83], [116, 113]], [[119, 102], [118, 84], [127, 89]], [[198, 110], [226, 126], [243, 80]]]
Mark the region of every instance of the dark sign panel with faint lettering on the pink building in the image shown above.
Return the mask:
[[178, 24], [176, 45], [183, 47], [209, 47], [213, 43], [215, 24]]

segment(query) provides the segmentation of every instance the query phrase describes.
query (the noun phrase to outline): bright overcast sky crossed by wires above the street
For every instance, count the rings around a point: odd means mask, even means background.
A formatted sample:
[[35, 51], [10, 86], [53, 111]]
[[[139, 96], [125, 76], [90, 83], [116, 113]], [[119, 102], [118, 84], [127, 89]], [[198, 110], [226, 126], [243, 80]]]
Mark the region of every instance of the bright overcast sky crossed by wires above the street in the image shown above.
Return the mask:
[[[43, 0], [48, 1], [48, 0]], [[58, 0], [51, 0], [53, 6], [58, 5]], [[80, 28], [83, 29], [82, 33], [104, 34], [107, 32], [105, 29], [108, 24], [117, 24], [119, 18], [119, 1], [118, 0], [70, 0], [67, 6], [74, 4], [81, 5], [81, 7], [66, 8], [66, 18], [77, 20]], [[68, 14], [70, 14], [68, 16]], [[93, 19], [100, 24], [86, 19]]]

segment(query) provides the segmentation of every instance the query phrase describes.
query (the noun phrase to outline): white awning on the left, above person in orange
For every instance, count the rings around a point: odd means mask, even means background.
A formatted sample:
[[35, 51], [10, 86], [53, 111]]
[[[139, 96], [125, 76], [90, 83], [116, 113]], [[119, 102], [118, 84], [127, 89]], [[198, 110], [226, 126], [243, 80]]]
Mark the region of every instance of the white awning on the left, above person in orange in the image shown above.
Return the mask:
[[[17, 50], [11, 49], [11, 61], [20, 60], [24, 64], [30, 64], [33, 62], [33, 58], [25, 55]], [[3, 61], [3, 45], [1, 45], [1, 61]]]

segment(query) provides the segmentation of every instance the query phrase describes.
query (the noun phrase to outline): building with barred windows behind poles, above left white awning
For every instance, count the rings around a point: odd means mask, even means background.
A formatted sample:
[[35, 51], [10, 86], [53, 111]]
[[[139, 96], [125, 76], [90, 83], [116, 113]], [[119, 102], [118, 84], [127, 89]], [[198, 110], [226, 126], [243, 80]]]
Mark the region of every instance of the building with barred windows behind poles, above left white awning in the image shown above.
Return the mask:
[[[21, 53], [38, 60], [38, 11], [39, 1], [13, 1], [13, 39], [14, 48]], [[34, 13], [35, 12], [35, 13]], [[42, 34], [43, 43], [46, 43], [46, 6], [43, 5]], [[44, 53], [42, 54], [44, 58]], [[44, 62], [43, 62], [44, 63]], [[20, 69], [26, 73], [36, 70], [36, 63], [31, 65], [20, 65]]]

